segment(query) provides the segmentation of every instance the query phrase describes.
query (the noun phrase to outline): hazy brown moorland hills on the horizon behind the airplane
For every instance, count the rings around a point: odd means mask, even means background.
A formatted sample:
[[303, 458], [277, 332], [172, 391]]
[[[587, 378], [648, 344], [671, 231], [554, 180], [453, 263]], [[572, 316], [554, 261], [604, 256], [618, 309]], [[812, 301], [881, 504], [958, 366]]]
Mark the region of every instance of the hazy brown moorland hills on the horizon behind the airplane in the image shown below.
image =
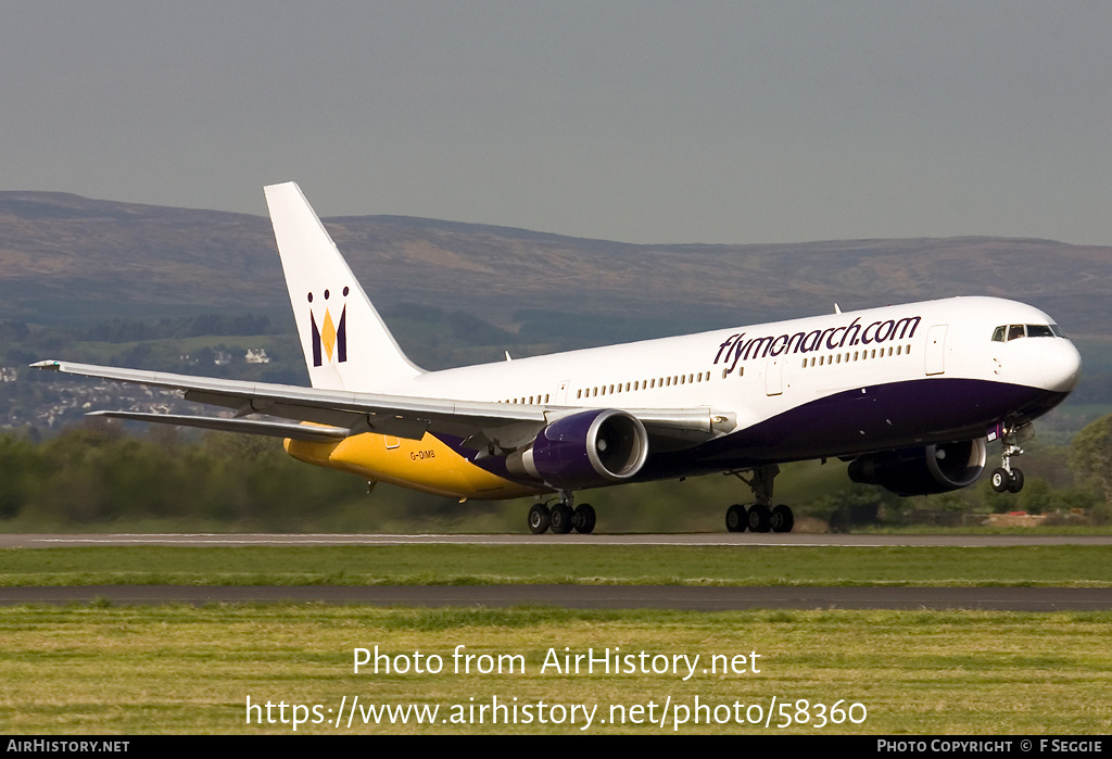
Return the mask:
[[[643, 331], [663, 334], [835, 301], [850, 310], [957, 294], [1030, 302], [1072, 334], [1104, 334], [1112, 317], [1109, 247], [980, 237], [643, 246], [407, 217], [325, 222], [385, 310], [435, 304], [499, 327], [605, 337], [645, 319]], [[288, 309], [266, 218], [0, 192], [0, 319], [288, 319]]]

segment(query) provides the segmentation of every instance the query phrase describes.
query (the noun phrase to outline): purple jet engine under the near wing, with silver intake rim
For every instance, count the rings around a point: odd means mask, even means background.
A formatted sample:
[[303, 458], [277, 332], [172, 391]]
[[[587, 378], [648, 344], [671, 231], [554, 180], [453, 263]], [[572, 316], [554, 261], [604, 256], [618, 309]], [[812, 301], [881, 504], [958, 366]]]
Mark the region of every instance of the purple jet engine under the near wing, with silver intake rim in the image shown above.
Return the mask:
[[557, 419], [533, 443], [506, 458], [515, 475], [575, 490], [622, 482], [648, 457], [648, 433], [641, 421], [617, 409], [580, 411]]

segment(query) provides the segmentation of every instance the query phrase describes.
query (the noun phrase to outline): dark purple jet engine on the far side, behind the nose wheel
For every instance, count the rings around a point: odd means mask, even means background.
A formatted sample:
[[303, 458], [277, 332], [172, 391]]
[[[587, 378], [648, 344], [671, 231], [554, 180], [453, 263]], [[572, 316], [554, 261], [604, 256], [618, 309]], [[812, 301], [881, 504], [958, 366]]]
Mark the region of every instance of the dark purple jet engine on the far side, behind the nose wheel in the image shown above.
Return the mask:
[[850, 479], [897, 496], [929, 496], [973, 485], [984, 462], [985, 439], [977, 438], [862, 456], [850, 465]]

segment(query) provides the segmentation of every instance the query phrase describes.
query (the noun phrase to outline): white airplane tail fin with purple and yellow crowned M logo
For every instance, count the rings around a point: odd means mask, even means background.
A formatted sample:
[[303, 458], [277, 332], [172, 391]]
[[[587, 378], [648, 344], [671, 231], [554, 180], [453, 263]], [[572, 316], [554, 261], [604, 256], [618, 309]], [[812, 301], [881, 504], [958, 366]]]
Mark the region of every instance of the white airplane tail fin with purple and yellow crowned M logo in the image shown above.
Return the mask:
[[315, 388], [380, 391], [421, 373], [294, 182], [262, 188]]

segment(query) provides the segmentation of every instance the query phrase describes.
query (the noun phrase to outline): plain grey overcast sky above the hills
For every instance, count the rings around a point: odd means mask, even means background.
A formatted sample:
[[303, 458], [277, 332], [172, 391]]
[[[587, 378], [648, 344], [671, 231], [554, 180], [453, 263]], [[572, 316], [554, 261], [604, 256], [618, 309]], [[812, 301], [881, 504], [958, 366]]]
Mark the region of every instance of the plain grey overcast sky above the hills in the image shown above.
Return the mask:
[[1112, 2], [0, 6], [0, 189], [1112, 244]]

